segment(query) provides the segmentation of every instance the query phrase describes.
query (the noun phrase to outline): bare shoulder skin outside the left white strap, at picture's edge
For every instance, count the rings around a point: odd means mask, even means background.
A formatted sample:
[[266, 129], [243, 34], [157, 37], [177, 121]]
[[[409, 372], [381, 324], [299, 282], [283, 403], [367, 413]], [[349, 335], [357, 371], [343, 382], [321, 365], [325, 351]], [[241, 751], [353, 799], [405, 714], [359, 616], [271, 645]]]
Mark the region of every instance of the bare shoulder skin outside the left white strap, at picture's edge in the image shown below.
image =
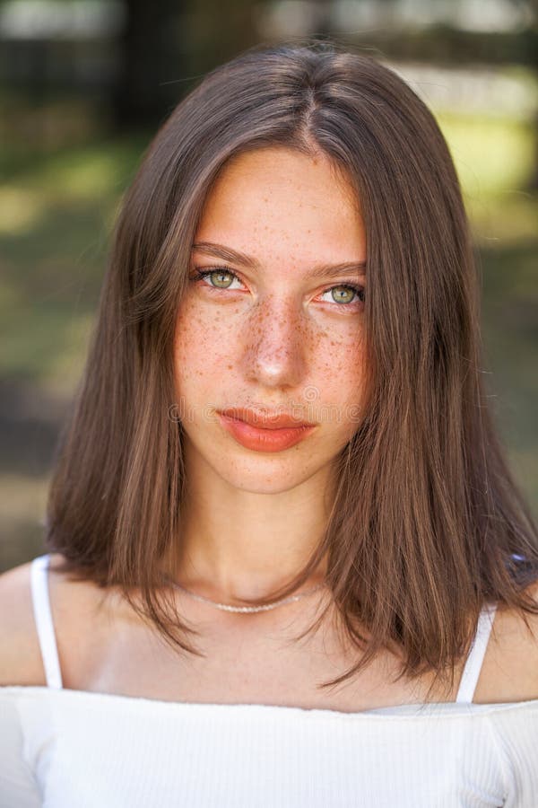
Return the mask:
[[44, 685], [30, 591], [30, 563], [0, 575], [0, 686]]

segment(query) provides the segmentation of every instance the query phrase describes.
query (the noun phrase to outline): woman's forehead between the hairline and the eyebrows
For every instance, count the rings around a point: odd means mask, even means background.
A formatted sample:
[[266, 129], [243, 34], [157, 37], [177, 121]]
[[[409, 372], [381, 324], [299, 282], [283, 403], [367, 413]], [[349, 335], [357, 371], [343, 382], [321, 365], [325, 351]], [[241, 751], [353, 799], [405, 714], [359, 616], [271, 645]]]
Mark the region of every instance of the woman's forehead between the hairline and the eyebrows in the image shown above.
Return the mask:
[[[205, 200], [195, 242], [213, 241], [263, 259], [365, 259], [360, 204], [325, 155], [283, 147], [227, 162]], [[323, 255], [320, 255], [320, 251]]]

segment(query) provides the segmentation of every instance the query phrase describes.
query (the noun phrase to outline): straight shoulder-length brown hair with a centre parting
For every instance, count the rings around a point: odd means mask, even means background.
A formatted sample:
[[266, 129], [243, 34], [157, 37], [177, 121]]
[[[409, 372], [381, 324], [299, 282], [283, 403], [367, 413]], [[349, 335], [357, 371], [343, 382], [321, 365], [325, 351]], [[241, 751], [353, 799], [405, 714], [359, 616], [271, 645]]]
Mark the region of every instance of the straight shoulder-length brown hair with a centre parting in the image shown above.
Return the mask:
[[335, 459], [324, 539], [289, 586], [258, 602], [293, 592], [328, 553], [343, 629], [366, 653], [322, 687], [383, 647], [401, 655], [400, 676], [453, 676], [484, 602], [538, 613], [526, 589], [538, 531], [482, 386], [479, 277], [445, 139], [394, 72], [334, 43], [247, 50], [206, 75], [152, 141], [123, 202], [58, 447], [48, 549], [75, 577], [119, 586], [162, 637], [199, 654], [160, 567], [181, 536], [174, 326], [218, 171], [275, 145], [328, 155], [360, 199], [369, 400]]

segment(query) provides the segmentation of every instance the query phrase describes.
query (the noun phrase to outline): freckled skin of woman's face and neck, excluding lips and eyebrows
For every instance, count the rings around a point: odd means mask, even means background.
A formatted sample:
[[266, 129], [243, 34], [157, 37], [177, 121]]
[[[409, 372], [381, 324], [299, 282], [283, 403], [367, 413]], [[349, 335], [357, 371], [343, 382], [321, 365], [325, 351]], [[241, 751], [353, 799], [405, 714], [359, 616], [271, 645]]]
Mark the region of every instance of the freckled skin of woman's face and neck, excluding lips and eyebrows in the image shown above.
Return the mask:
[[[199, 242], [259, 264], [194, 249], [191, 275], [217, 267], [237, 279], [193, 277], [175, 337], [188, 485], [178, 580], [234, 602], [288, 583], [323, 533], [334, 458], [360, 423], [364, 395], [364, 298], [342, 285], [366, 278], [359, 268], [308, 276], [320, 264], [364, 262], [366, 235], [358, 200], [325, 155], [272, 147], [224, 166]], [[317, 426], [282, 452], [256, 452], [215, 415], [237, 407], [291, 412]]]

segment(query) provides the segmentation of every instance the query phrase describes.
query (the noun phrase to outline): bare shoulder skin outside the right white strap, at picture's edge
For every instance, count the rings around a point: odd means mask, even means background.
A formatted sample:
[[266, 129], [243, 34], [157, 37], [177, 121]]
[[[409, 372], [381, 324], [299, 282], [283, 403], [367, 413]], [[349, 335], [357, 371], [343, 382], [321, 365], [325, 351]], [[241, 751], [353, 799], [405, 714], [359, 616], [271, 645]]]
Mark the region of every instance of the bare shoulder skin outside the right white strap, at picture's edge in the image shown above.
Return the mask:
[[[526, 592], [538, 606], [538, 582]], [[538, 614], [499, 607], [474, 701], [500, 703], [538, 698]]]

